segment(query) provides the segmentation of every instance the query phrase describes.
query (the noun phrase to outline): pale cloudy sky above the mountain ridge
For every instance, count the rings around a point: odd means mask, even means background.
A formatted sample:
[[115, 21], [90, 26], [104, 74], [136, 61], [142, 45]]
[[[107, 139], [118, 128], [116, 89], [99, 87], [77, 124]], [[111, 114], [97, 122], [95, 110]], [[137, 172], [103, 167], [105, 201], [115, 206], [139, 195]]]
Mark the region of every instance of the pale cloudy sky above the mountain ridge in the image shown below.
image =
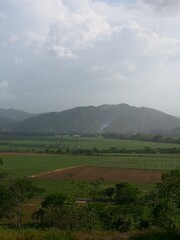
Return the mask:
[[180, 0], [0, 0], [0, 108], [180, 116]]

